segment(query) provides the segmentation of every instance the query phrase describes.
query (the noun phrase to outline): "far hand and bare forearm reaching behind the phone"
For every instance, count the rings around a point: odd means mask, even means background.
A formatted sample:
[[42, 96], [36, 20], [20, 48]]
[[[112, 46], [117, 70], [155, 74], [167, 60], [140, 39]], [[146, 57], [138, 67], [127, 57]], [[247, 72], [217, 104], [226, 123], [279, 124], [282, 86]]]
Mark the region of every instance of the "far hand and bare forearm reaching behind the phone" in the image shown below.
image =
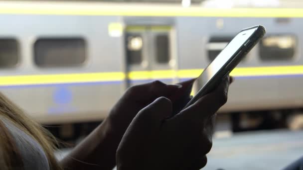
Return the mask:
[[176, 106], [184, 106], [186, 103], [182, 101], [189, 98], [192, 83], [193, 80], [181, 85], [165, 85], [155, 81], [129, 88], [113, 107], [108, 118], [60, 164], [71, 170], [112, 170], [116, 165], [118, 145], [136, 114], [160, 96], [175, 101]]

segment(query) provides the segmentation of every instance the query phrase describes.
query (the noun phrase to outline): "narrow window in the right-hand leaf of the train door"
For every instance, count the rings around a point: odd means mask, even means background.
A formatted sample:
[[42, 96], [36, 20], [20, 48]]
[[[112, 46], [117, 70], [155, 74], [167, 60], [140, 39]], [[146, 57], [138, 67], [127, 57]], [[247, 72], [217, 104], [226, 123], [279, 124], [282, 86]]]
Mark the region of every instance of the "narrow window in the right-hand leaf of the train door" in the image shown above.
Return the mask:
[[169, 61], [169, 39], [168, 35], [156, 36], [156, 61], [158, 63], [168, 63]]

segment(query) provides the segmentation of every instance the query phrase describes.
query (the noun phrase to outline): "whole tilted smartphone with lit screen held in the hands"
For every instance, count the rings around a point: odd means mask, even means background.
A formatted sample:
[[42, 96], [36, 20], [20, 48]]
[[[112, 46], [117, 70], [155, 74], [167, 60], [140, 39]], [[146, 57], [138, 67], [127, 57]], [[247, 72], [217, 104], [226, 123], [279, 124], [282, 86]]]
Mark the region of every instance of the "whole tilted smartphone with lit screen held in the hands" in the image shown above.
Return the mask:
[[191, 98], [184, 108], [190, 106], [203, 95], [215, 89], [240, 63], [243, 57], [259, 42], [265, 32], [266, 30], [262, 25], [241, 30], [195, 80], [193, 86], [200, 90]]

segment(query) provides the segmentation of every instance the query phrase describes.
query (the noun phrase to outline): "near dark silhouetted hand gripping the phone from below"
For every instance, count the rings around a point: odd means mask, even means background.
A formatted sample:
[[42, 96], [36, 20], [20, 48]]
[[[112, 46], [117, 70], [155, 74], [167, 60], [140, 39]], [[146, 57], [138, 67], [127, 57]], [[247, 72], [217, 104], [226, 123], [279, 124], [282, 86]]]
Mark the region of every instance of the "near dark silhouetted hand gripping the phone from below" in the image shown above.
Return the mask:
[[228, 87], [226, 78], [214, 91], [169, 119], [173, 108], [165, 97], [157, 98], [142, 109], [118, 147], [118, 170], [198, 170], [204, 167], [206, 154], [212, 147], [215, 113], [226, 103]]

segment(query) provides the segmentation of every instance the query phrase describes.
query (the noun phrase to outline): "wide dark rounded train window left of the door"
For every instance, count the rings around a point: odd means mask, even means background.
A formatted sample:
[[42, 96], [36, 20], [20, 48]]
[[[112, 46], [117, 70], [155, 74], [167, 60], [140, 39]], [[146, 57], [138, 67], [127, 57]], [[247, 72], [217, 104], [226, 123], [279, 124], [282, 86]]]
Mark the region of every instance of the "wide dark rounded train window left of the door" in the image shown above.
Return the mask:
[[75, 67], [86, 60], [82, 38], [43, 38], [34, 44], [34, 61], [39, 67]]

